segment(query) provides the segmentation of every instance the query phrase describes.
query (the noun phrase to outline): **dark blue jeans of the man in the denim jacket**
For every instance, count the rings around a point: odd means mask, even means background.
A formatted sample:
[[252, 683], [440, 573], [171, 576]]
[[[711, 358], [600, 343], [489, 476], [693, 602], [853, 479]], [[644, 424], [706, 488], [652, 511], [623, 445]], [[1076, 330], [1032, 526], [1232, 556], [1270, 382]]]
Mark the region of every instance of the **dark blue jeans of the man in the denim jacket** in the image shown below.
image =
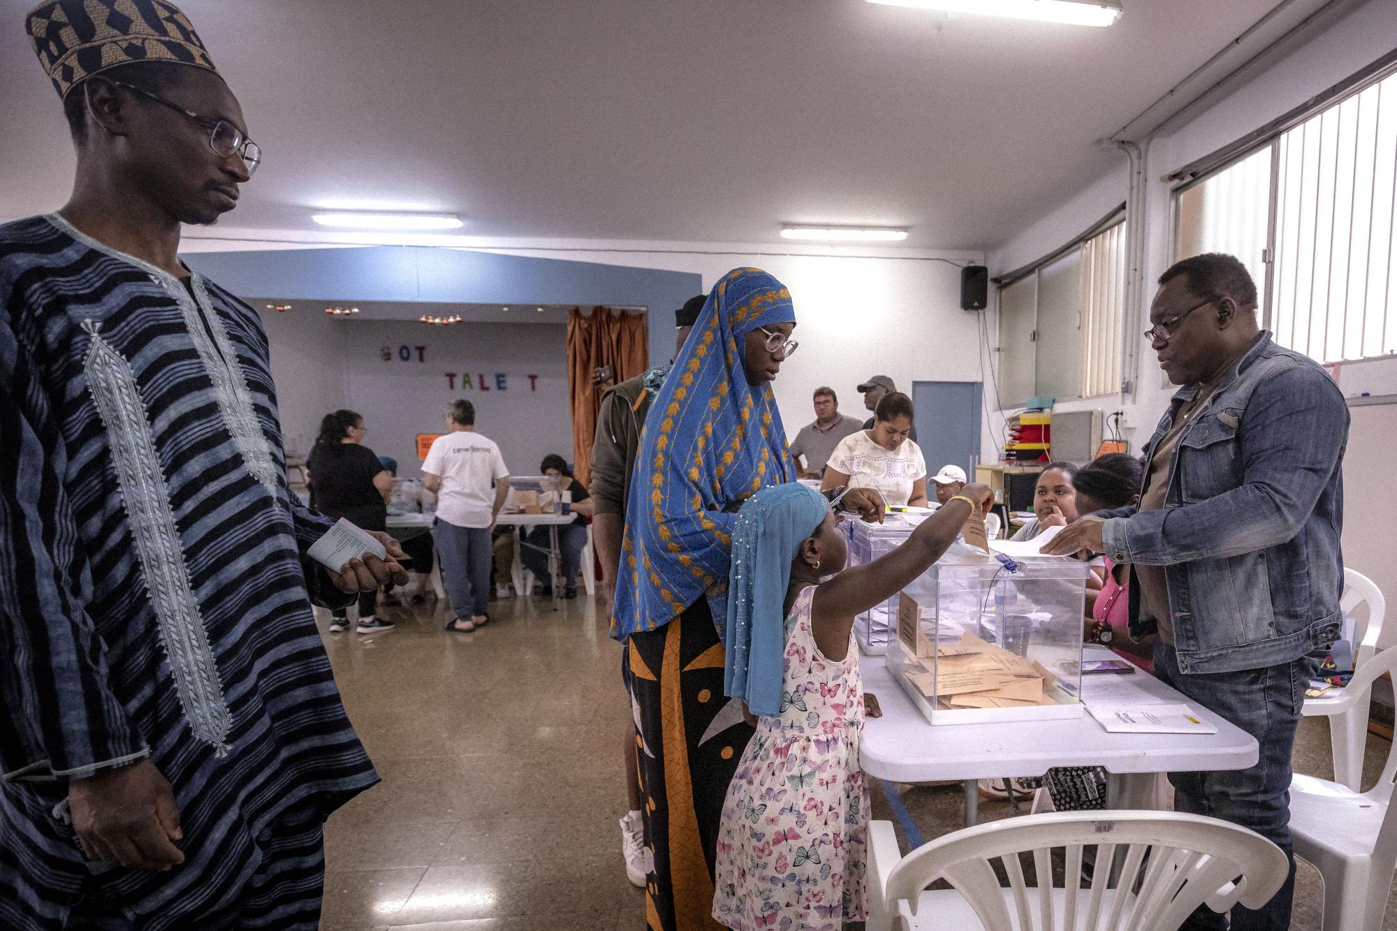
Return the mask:
[[[1281, 890], [1253, 911], [1232, 909], [1232, 931], [1274, 931], [1291, 927], [1295, 893], [1295, 846], [1291, 840], [1291, 751], [1305, 688], [1315, 660], [1301, 657], [1280, 665], [1238, 672], [1179, 672], [1179, 657], [1162, 640], [1154, 647], [1154, 674], [1210, 712], [1256, 738], [1256, 766], [1242, 770], [1169, 773], [1175, 811], [1207, 815], [1250, 828], [1285, 851], [1291, 872]], [[1200, 907], [1183, 924], [1187, 931], [1221, 931], [1224, 916]]]

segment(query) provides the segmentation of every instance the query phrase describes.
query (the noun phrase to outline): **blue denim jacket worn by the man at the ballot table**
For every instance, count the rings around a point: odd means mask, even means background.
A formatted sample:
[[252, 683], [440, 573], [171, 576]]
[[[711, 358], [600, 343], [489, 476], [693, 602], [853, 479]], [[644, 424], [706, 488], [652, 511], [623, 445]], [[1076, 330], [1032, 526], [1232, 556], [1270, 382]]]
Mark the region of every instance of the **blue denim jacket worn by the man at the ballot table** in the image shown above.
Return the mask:
[[[1147, 463], [1197, 393], [1173, 396]], [[1166, 566], [1182, 672], [1277, 665], [1338, 639], [1347, 442], [1338, 386], [1263, 333], [1183, 429], [1164, 507], [1102, 514], [1111, 559]], [[1132, 633], [1154, 626], [1132, 583]]]

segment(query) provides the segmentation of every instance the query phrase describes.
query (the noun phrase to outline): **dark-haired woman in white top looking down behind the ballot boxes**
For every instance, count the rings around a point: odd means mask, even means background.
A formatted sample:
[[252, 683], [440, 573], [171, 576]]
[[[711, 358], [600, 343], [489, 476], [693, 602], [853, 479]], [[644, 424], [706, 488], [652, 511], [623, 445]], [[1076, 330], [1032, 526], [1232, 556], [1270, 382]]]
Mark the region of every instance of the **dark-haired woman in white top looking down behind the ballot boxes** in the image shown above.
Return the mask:
[[877, 403], [873, 429], [840, 440], [824, 467], [823, 488], [873, 488], [888, 505], [926, 506], [926, 460], [908, 439], [912, 398], [890, 391]]

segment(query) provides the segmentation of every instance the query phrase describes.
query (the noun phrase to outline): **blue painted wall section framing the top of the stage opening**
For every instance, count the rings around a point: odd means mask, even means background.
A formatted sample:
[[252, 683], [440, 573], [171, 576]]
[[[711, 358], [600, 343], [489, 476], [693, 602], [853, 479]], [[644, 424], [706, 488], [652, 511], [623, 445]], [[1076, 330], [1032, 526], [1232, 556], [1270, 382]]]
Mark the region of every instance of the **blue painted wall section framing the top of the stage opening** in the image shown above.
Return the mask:
[[672, 312], [703, 289], [687, 271], [427, 246], [207, 252], [184, 261], [249, 298], [644, 306], [651, 365], [673, 355]]

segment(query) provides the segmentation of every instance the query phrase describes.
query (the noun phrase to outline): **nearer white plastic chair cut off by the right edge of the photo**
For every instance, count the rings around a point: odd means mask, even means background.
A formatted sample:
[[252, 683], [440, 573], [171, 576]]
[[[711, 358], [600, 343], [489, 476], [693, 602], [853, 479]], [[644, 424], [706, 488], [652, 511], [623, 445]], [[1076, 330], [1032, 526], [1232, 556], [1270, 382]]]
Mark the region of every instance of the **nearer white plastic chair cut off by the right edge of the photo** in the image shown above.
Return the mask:
[[[1334, 702], [1362, 707], [1366, 727], [1373, 682], [1394, 668], [1397, 650], [1383, 650], [1358, 668]], [[1336, 713], [1354, 713], [1352, 707]], [[1323, 931], [1377, 931], [1383, 924], [1397, 867], [1397, 807], [1390, 804], [1394, 780], [1397, 744], [1377, 784], [1366, 793], [1313, 776], [1291, 780], [1295, 856], [1324, 876]]]

